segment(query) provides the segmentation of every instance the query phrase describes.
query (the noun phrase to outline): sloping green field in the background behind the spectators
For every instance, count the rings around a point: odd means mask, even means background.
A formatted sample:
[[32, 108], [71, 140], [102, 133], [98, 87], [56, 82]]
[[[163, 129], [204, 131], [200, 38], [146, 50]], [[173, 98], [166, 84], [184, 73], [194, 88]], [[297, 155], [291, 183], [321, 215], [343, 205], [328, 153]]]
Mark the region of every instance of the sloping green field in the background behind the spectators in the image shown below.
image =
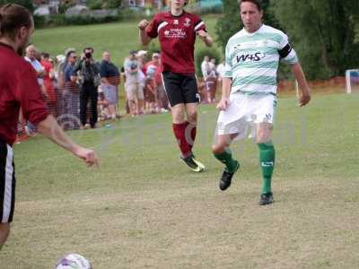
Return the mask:
[[[218, 15], [203, 17], [214, 38], [217, 17]], [[111, 53], [112, 61], [118, 66], [123, 65], [130, 50], [140, 48], [137, 22], [40, 29], [35, 31], [31, 43], [52, 56], [64, 54], [66, 48], [76, 48], [78, 52], [82, 52], [83, 48], [92, 46], [97, 59], [101, 59], [102, 52], [107, 50]], [[203, 47], [202, 42], [197, 41], [197, 48]]]

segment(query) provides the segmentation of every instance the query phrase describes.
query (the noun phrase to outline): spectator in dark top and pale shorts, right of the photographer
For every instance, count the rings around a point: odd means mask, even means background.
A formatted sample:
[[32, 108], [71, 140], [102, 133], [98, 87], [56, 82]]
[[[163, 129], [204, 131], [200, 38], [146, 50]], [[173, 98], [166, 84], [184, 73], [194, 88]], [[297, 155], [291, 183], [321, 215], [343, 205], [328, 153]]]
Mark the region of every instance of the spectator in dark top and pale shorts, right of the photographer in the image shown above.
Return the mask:
[[120, 76], [118, 67], [111, 62], [111, 56], [108, 51], [102, 54], [100, 64], [101, 91], [105, 99], [109, 102], [109, 115], [112, 118], [119, 116], [118, 107], [118, 84]]

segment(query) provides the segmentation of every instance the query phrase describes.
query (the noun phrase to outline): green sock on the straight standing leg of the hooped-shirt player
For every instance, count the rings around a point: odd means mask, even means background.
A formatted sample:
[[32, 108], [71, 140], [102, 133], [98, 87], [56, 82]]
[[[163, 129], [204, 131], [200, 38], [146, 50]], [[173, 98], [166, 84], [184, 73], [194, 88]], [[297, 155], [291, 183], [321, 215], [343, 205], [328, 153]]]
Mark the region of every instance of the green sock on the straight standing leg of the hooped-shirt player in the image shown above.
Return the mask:
[[275, 168], [276, 152], [272, 142], [258, 143], [259, 164], [262, 169], [262, 193], [267, 194], [272, 191], [272, 175]]

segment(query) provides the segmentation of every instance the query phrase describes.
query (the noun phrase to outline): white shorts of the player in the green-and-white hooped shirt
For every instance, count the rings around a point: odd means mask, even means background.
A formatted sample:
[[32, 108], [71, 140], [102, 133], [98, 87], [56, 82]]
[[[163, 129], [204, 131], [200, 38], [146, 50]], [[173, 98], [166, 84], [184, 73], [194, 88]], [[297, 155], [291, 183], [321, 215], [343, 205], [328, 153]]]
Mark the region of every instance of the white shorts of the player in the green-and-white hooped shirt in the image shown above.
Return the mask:
[[276, 96], [272, 94], [248, 95], [235, 92], [230, 95], [229, 107], [219, 113], [215, 134], [238, 134], [236, 139], [255, 137], [257, 125], [274, 123]]

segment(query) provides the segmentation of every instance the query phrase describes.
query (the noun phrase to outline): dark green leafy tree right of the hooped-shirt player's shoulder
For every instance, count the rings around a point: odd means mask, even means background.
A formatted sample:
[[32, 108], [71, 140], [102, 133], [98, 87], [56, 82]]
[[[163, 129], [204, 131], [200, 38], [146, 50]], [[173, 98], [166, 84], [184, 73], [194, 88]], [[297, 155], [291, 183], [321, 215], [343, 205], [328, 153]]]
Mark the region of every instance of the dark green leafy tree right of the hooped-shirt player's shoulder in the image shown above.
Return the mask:
[[310, 78], [343, 75], [357, 67], [358, 0], [276, 0], [273, 4]]

